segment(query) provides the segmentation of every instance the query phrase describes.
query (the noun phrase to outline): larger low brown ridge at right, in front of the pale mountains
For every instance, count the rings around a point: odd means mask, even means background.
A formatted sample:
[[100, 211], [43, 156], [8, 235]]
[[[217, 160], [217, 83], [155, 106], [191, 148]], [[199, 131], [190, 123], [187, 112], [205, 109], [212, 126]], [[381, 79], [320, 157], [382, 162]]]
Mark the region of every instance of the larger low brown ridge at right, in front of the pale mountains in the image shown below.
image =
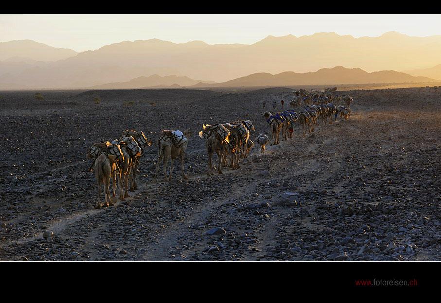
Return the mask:
[[272, 75], [256, 73], [218, 84], [199, 83], [192, 87], [234, 87], [234, 86], [292, 86], [319, 84], [369, 84], [369, 83], [402, 83], [402, 82], [436, 82], [427, 77], [414, 77], [405, 73], [378, 71], [368, 73], [360, 68], [322, 68], [316, 72], [294, 73], [283, 72]]

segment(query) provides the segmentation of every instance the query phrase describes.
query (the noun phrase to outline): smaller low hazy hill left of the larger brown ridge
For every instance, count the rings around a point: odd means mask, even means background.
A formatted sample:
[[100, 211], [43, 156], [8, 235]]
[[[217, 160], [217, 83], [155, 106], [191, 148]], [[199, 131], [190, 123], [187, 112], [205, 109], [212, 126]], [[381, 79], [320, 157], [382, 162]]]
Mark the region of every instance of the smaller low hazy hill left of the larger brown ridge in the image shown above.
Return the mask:
[[151, 75], [149, 77], [141, 76], [134, 78], [128, 82], [115, 82], [91, 87], [92, 89], [130, 89], [130, 88], [159, 88], [159, 87], [183, 87], [191, 86], [198, 83], [214, 84], [214, 81], [201, 81], [190, 79], [187, 76], [178, 77], [170, 75], [161, 77], [159, 75]]

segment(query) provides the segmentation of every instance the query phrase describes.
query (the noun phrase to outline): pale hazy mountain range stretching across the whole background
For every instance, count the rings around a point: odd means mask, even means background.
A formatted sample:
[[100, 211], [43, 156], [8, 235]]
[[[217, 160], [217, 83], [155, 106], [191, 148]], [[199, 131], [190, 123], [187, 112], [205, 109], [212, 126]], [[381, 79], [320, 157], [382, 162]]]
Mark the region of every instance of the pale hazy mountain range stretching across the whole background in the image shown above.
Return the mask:
[[[15, 43], [12, 42], [3, 45], [11, 46]], [[22, 48], [17, 46], [11, 54], [0, 47], [0, 86], [10, 83], [15, 87], [87, 88], [153, 74], [225, 82], [262, 71], [276, 76], [286, 70], [305, 73], [339, 65], [368, 72], [416, 70], [440, 63], [441, 36], [411, 37], [387, 32], [379, 37], [354, 38], [322, 32], [301, 37], [268, 36], [251, 45], [136, 40], [106, 45], [60, 60], [53, 55], [52, 62], [42, 62], [48, 60], [49, 51], [45, 58], [36, 58], [29, 51], [24, 53]], [[37, 61], [5, 62], [11, 57]], [[385, 75], [386, 72], [381, 72], [378, 77], [389, 79]], [[158, 85], [161, 84], [165, 83]]]

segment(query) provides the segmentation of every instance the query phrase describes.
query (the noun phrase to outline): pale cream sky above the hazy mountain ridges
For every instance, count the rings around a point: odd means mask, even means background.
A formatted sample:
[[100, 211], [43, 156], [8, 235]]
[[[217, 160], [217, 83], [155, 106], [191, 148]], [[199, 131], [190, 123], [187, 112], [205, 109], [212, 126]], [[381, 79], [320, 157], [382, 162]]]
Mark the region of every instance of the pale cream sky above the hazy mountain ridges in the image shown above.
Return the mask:
[[359, 38], [390, 31], [441, 35], [441, 14], [0, 14], [0, 42], [34, 40], [78, 52], [153, 38], [253, 44], [269, 35]]

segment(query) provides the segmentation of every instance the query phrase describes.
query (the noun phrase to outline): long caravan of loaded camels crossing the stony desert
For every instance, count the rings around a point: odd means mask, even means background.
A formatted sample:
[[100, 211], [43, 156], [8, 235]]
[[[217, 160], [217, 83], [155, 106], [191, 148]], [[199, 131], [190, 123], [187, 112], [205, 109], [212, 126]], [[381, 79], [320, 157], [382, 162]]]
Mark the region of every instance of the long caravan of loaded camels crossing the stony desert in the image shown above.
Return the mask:
[[[333, 90], [334, 91], [334, 90]], [[314, 132], [314, 127], [319, 123], [332, 124], [333, 119], [337, 121], [340, 114], [342, 119], [348, 120], [351, 114], [349, 105], [352, 97], [349, 95], [320, 94], [315, 91], [300, 89], [294, 91], [294, 99], [290, 102], [292, 108], [299, 109], [305, 105], [303, 111], [296, 112], [293, 109], [285, 112], [264, 112], [265, 121], [269, 124], [271, 138], [265, 134], [260, 134], [255, 138], [255, 142], [260, 145], [261, 153], [265, 152], [265, 145], [280, 144], [280, 135], [283, 140], [293, 138], [294, 126], [299, 125], [300, 132]], [[334, 101], [335, 103], [331, 102]], [[344, 105], [343, 105], [344, 103]], [[250, 140], [251, 133], [255, 128], [250, 120], [236, 121], [232, 123], [204, 124], [199, 137], [206, 140], [207, 148], [207, 175], [213, 175], [212, 156], [217, 154], [218, 165], [217, 173], [222, 174], [222, 167], [229, 167], [232, 170], [240, 168], [240, 159], [249, 156], [254, 142]], [[170, 182], [173, 174], [173, 163], [175, 159], [180, 160], [180, 168], [184, 180], [188, 180], [184, 172], [184, 159], [192, 132], [189, 130], [163, 130], [157, 141], [158, 158], [156, 163], [155, 181], [159, 172], [159, 164], [163, 162], [163, 173], [165, 181]], [[136, 183], [136, 173], [140, 165], [141, 157], [151, 146], [142, 131], [124, 130], [119, 139], [113, 141], [101, 141], [92, 145], [87, 151], [88, 159], [93, 162], [86, 174], [91, 171], [95, 173], [98, 185], [98, 202], [95, 208], [101, 206], [112, 206], [116, 198], [117, 182], [120, 188], [118, 199], [124, 201], [129, 197], [128, 191], [134, 192], [138, 189]], [[170, 164], [170, 173], [167, 176], [167, 165]], [[110, 179], [112, 180], [112, 196], [110, 196]], [[101, 184], [104, 184], [104, 204], [100, 204]]]

